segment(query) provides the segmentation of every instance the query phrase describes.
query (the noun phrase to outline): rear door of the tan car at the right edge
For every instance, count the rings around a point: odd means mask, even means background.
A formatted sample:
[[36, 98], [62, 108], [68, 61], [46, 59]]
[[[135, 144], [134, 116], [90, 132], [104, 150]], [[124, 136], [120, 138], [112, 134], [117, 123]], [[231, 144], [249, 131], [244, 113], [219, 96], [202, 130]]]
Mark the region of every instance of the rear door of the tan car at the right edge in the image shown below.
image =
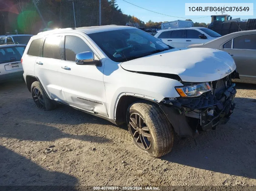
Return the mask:
[[222, 46], [237, 66], [240, 79], [256, 81], [256, 34], [236, 37]]

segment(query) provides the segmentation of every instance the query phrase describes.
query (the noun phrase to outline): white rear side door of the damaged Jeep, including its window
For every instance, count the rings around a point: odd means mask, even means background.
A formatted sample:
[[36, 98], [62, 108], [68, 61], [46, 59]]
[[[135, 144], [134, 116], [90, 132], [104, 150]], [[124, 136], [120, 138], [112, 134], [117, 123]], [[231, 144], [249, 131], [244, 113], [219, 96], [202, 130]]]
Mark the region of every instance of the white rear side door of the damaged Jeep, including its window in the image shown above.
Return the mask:
[[62, 59], [61, 35], [49, 35], [44, 39], [42, 57], [35, 62], [35, 75], [53, 100], [65, 100], [60, 71]]

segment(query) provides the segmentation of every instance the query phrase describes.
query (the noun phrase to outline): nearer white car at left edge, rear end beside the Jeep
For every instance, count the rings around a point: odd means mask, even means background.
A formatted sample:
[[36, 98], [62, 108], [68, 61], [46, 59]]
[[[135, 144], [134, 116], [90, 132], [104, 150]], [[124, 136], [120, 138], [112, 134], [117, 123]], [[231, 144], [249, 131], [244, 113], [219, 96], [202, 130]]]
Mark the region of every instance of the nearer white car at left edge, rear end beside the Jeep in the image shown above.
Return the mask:
[[25, 44], [0, 45], [0, 82], [23, 78], [21, 57]]

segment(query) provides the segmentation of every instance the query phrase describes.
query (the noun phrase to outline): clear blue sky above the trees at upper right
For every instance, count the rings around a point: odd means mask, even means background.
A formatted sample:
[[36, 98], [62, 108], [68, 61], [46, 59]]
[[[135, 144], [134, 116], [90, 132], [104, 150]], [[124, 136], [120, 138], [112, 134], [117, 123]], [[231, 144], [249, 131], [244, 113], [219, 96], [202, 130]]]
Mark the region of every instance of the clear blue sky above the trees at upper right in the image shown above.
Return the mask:
[[[198, 0], [198, 1], [188, 1], [188, 0], [126, 0], [132, 4], [138, 5], [140, 7], [156, 11], [162, 14], [173, 15], [177, 17], [186, 17], [191, 18], [194, 22], [204, 22], [210, 23], [211, 17], [206, 18], [196, 18], [196, 17], [204, 17], [204, 16], [185, 16], [185, 3], [218, 3], [223, 1], [215, 0], [215, 1], [208, 1], [205, 0]], [[233, 18], [241, 18], [241, 19], [248, 19], [248, 18], [256, 18], [256, 0], [226, 0], [225, 3], [254, 3], [254, 16], [238, 16], [232, 15], [231, 13], [224, 13], [230, 14]], [[149, 20], [154, 22], [160, 21], [175, 21], [175, 20], [185, 20], [183, 18], [175, 18], [175, 17], [168, 17], [161, 14], [153, 13], [150, 11], [146, 11], [144, 9], [135, 7], [134, 5], [128, 4], [122, 0], [117, 0], [117, 4], [119, 8], [121, 8], [122, 12], [125, 14], [134, 15], [138, 17], [140, 20], [144, 21], [145, 23]], [[221, 13], [218, 13], [221, 14]]]

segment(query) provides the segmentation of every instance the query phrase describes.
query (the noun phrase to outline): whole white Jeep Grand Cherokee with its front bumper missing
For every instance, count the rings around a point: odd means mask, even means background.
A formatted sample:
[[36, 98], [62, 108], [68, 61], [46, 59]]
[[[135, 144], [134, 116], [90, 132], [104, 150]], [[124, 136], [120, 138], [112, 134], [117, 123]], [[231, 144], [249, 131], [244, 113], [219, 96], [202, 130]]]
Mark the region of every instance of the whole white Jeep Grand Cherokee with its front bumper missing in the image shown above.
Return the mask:
[[[24, 78], [38, 108], [56, 102], [128, 124], [153, 157], [171, 151], [174, 133], [215, 129], [234, 109], [234, 60], [216, 49], [179, 50], [125, 26], [58, 29], [31, 37]], [[225, 120], [224, 120], [225, 119]]]

